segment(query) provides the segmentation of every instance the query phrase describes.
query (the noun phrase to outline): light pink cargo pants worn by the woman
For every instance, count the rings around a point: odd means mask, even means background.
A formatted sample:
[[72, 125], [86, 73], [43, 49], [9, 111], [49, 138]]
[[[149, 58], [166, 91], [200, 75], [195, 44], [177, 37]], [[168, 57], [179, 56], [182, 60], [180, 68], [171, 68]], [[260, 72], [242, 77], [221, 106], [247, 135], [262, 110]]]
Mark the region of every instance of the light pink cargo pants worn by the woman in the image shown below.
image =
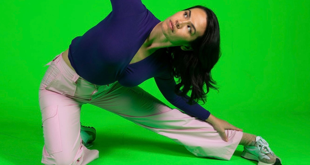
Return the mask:
[[85, 165], [99, 157], [99, 151], [87, 149], [80, 136], [80, 112], [86, 103], [168, 137], [196, 156], [232, 157], [243, 132], [226, 130], [225, 142], [208, 122], [170, 108], [139, 86], [123, 87], [117, 81], [91, 84], [64, 62], [62, 53], [47, 64], [39, 87], [43, 164]]

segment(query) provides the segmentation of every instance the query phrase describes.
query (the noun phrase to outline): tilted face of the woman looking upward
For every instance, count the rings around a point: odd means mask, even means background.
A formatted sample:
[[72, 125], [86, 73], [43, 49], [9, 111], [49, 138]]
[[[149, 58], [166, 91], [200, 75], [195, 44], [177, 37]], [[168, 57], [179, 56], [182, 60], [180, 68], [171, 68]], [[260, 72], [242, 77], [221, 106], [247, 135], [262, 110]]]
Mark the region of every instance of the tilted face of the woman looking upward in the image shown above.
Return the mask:
[[[163, 21], [162, 32], [172, 44], [181, 46], [183, 50], [190, 50], [189, 43], [202, 36], [206, 30], [206, 18], [206, 12], [200, 8], [179, 11]], [[173, 30], [170, 28], [170, 21]]]

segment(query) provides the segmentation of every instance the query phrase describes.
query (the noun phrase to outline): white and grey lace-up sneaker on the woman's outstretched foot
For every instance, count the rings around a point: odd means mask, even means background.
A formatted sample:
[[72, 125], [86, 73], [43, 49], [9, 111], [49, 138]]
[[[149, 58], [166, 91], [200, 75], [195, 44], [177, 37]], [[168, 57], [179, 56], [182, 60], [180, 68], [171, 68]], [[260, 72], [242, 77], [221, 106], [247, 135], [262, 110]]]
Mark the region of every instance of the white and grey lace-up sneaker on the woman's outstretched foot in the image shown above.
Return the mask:
[[257, 136], [251, 145], [243, 147], [241, 157], [256, 160], [258, 165], [282, 165], [281, 159], [269, 148], [269, 144], [262, 137]]

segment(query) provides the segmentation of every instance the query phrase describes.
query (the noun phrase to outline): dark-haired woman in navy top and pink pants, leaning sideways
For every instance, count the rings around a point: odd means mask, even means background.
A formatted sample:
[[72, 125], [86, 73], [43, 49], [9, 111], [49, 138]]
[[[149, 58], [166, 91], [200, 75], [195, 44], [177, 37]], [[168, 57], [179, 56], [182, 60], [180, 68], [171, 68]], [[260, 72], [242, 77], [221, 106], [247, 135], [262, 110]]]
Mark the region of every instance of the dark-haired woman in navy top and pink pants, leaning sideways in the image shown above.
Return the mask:
[[[99, 157], [98, 150], [84, 145], [94, 137], [87, 139], [81, 131], [81, 106], [90, 103], [166, 136], [196, 156], [229, 160], [237, 145], [244, 145], [242, 157], [281, 164], [262, 137], [243, 133], [197, 104], [206, 98], [204, 83], [207, 92], [215, 88], [210, 70], [220, 54], [219, 24], [210, 9], [195, 6], [160, 21], [141, 0], [111, 4], [104, 20], [47, 64], [39, 88], [42, 163], [85, 165]], [[182, 81], [176, 84], [174, 76]], [[153, 77], [164, 97], [185, 113], [137, 86]]]

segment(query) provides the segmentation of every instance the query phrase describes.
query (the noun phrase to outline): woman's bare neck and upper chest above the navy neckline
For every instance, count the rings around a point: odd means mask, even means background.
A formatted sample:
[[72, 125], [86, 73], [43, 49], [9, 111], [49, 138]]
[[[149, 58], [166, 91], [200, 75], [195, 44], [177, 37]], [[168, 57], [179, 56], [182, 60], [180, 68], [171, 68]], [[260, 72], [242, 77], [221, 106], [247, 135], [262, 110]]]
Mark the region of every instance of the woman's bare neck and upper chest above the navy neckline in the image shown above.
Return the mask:
[[172, 44], [170, 41], [167, 40], [165, 35], [162, 33], [162, 23], [158, 23], [148, 36], [148, 38], [144, 42], [144, 46], [149, 51], [156, 51], [160, 48], [170, 47], [170, 46], [176, 46]]

